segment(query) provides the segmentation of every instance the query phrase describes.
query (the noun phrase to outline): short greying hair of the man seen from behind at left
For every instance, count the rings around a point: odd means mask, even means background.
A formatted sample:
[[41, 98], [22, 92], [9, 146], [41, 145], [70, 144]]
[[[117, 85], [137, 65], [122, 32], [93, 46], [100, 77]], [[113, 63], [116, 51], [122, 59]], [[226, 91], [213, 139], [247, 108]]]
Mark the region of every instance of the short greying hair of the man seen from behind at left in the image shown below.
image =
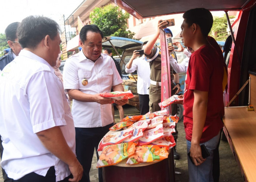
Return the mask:
[[46, 35], [54, 39], [60, 27], [56, 21], [44, 16], [28, 16], [18, 27], [18, 39], [22, 48], [35, 48]]

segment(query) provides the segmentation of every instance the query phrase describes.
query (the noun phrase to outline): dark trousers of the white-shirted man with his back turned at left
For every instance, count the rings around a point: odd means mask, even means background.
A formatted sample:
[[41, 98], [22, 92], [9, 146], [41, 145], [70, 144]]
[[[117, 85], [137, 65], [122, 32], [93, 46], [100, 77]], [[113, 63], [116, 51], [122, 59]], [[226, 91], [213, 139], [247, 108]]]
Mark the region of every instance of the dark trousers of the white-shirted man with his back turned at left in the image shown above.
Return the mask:
[[[60, 182], [68, 182], [68, 179], [72, 178], [72, 174], [61, 180]], [[56, 175], [54, 166], [50, 167], [45, 176], [29, 173], [18, 180], [13, 180], [13, 182], [56, 182]]]

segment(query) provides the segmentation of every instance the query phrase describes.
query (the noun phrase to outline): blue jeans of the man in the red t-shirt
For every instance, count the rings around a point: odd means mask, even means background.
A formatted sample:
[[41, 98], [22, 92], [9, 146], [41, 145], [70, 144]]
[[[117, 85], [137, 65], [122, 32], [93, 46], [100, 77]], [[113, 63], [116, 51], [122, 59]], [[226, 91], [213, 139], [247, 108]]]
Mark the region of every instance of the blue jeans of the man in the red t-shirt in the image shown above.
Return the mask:
[[[210, 153], [210, 156], [206, 158], [201, 165], [195, 166], [188, 158], [188, 174], [189, 174], [189, 182], [213, 182], [212, 176], [212, 158], [213, 151], [216, 149], [219, 142], [220, 132], [218, 135], [208, 140], [207, 142], [200, 143], [200, 145], [204, 144], [207, 150]], [[191, 142], [187, 140], [187, 153], [189, 153], [191, 147]]]

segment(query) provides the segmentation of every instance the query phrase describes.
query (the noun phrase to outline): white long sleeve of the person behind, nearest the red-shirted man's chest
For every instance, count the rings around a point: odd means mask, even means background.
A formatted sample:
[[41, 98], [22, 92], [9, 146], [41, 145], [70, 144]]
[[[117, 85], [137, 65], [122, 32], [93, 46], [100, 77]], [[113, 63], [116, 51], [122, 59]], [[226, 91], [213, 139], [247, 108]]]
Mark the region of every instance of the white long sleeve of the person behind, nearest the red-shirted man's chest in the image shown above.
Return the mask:
[[189, 58], [191, 56], [191, 53], [188, 52], [187, 49], [184, 49], [183, 53], [185, 54], [186, 58], [183, 59], [180, 64], [177, 63], [176, 59], [174, 59], [172, 55], [170, 55], [170, 57], [169, 57], [170, 65], [173, 67], [173, 70], [176, 73], [187, 72], [188, 62], [189, 62]]

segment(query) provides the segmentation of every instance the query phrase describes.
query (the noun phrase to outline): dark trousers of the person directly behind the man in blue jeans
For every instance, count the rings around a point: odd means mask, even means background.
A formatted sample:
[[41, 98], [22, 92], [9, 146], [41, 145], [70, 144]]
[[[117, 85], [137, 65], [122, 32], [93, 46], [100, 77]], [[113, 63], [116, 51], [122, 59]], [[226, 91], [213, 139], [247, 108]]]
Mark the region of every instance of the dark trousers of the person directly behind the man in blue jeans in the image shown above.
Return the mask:
[[221, 142], [221, 133], [223, 129], [221, 129], [219, 142], [216, 149], [213, 150], [213, 158], [212, 158], [212, 175], [213, 181], [219, 182], [219, 143]]

